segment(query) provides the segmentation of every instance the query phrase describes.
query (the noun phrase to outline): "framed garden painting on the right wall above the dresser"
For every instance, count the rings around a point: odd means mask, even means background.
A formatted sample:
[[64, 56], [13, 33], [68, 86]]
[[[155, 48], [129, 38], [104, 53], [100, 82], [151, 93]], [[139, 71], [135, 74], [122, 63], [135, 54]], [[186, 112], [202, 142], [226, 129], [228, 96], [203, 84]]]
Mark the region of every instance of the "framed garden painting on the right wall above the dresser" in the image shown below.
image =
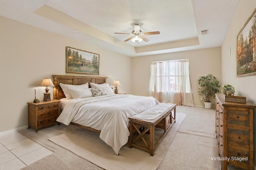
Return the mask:
[[256, 9], [237, 35], [236, 76], [256, 75]]

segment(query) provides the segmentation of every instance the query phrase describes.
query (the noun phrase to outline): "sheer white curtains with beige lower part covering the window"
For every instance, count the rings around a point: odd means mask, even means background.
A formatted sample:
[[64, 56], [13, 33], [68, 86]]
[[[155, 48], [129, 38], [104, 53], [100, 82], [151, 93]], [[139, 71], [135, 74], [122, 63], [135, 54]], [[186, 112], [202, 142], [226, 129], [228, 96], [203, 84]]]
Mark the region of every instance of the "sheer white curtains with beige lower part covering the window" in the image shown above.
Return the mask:
[[163, 103], [195, 106], [188, 59], [153, 62], [150, 71], [150, 96]]

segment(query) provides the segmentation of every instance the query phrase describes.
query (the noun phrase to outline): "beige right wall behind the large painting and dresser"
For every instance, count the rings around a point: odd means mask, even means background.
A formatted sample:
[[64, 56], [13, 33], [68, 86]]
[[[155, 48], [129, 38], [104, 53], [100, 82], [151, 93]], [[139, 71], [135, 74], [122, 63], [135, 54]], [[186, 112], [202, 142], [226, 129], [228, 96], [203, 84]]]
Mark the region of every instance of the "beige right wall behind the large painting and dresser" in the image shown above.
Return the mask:
[[[256, 76], [236, 77], [236, 37], [240, 29], [244, 26], [252, 12], [256, 8], [255, 0], [240, 1], [236, 12], [230, 23], [228, 32], [222, 44], [221, 62], [222, 62], [222, 85], [231, 84], [236, 90], [236, 94], [245, 96], [246, 99], [256, 104]], [[229, 57], [229, 48], [231, 55]], [[254, 148], [256, 148], [256, 109], [254, 109]], [[256, 162], [256, 152], [254, 149], [254, 165]], [[256, 169], [254, 167], [254, 169]]]

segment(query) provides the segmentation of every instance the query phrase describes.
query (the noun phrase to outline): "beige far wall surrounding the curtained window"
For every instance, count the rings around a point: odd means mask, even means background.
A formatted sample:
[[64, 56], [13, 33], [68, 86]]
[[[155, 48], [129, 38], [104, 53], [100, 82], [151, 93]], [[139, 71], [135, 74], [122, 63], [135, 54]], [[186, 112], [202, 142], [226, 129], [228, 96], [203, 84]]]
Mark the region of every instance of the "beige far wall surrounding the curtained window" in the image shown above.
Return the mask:
[[190, 80], [193, 90], [194, 103], [196, 106], [204, 106], [204, 102], [200, 101], [200, 96], [198, 95], [197, 80], [200, 76], [206, 76], [207, 74], [213, 74], [218, 80], [221, 80], [220, 47], [133, 57], [132, 94], [148, 96], [151, 62], [177, 59], [189, 59]]

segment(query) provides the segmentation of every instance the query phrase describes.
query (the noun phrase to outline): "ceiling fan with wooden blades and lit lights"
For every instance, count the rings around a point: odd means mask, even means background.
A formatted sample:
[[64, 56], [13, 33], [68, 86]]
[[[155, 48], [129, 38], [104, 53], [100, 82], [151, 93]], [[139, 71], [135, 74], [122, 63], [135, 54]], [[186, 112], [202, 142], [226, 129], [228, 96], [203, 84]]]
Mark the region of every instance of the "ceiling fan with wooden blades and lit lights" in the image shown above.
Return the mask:
[[150, 41], [149, 39], [147, 39], [146, 37], [144, 37], [143, 35], [155, 35], [155, 34], [160, 34], [159, 31], [153, 31], [153, 32], [146, 32], [143, 33], [140, 30], [140, 25], [138, 23], [134, 24], [134, 30], [132, 31], [132, 33], [115, 33], [115, 34], [129, 34], [129, 35], [133, 35], [132, 37], [124, 40], [124, 41], [129, 41], [131, 40], [132, 42], [137, 42], [140, 43], [142, 40], [145, 42]]

